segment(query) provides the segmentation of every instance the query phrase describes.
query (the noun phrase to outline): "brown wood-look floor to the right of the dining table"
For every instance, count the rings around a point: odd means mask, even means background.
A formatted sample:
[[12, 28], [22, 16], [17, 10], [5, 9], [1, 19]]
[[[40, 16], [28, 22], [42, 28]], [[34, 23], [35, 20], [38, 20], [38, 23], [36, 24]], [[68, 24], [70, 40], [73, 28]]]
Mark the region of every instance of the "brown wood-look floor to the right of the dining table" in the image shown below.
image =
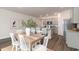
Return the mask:
[[67, 47], [64, 37], [60, 35], [54, 35], [54, 37], [49, 40], [48, 48], [55, 51], [78, 51], [78, 49]]

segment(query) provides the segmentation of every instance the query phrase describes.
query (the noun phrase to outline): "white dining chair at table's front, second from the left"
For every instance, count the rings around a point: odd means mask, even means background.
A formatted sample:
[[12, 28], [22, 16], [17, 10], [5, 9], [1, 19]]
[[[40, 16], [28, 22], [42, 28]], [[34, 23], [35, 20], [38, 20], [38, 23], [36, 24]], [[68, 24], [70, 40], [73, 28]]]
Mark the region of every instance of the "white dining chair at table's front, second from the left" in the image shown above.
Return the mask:
[[20, 34], [18, 36], [19, 36], [19, 42], [20, 42], [21, 51], [27, 51], [28, 47], [27, 47], [27, 44], [25, 42], [24, 36], [20, 35]]

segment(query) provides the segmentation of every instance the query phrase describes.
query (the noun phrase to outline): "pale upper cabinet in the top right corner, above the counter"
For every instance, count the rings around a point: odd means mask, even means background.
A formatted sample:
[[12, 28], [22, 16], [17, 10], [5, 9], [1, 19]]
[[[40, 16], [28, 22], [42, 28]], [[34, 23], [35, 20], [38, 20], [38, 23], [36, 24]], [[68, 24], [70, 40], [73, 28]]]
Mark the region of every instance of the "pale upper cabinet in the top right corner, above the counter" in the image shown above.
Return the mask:
[[78, 7], [74, 7], [72, 9], [72, 22], [79, 23], [79, 8]]

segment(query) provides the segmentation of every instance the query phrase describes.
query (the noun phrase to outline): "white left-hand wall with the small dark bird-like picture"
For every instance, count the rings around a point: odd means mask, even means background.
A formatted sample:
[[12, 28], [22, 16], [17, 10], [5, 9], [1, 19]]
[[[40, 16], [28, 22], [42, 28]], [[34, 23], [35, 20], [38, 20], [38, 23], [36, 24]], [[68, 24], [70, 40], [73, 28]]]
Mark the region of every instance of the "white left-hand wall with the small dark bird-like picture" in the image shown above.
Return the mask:
[[16, 29], [21, 28], [21, 21], [27, 20], [30, 16], [0, 9], [0, 39], [9, 37], [10, 31], [13, 30], [12, 22], [16, 21]]

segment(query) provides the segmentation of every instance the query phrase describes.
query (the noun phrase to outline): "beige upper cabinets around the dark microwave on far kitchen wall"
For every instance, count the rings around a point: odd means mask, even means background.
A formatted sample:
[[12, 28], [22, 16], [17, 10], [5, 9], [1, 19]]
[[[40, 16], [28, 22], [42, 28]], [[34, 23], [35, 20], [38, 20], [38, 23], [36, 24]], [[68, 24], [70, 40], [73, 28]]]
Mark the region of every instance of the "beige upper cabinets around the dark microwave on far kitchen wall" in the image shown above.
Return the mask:
[[56, 16], [42, 17], [42, 27], [52, 28], [53, 26], [58, 26], [58, 19]]

